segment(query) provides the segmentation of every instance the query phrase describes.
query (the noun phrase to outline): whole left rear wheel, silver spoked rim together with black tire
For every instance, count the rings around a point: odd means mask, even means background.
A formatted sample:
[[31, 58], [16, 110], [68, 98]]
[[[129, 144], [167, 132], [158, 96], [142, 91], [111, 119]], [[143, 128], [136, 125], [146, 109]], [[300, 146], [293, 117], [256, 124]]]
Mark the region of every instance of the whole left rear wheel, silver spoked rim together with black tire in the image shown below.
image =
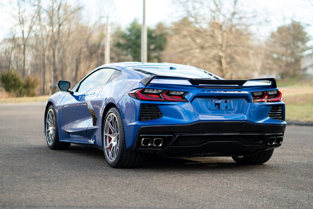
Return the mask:
[[126, 149], [124, 124], [120, 111], [112, 107], [103, 121], [103, 151], [111, 167], [139, 167], [144, 160], [142, 153]]

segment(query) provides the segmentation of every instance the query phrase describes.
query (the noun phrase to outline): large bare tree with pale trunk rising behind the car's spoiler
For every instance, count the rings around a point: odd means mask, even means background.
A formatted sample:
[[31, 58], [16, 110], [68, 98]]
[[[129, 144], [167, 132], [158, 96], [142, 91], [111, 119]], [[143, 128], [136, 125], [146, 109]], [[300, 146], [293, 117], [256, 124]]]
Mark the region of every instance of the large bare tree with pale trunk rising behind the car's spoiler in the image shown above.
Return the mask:
[[[239, 10], [238, 1], [177, 0], [177, 3], [188, 18], [184, 20], [185, 24], [189, 24], [189, 29], [183, 33], [174, 31], [174, 36], [185, 39], [176, 41], [188, 45], [186, 56], [191, 62], [186, 64], [204, 65], [205, 69], [226, 78], [246, 76], [250, 70], [249, 51], [252, 50], [250, 16]], [[173, 45], [170, 47], [175, 47]]]

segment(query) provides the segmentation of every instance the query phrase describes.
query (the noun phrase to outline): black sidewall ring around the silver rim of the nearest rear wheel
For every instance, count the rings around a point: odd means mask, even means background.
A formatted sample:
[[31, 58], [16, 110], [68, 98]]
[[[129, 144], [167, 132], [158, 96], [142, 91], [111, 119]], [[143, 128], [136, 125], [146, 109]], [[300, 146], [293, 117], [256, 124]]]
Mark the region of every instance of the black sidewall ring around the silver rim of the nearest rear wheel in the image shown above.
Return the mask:
[[[116, 119], [117, 119], [117, 122], [118, 122], [118, 126], [119, 126], [119, 145], [118, 145], [118, 151], [117, 151], [117, 156], [115, 158], [115, 160], [113, 162], [110, 162], [106, 156], [106, 153], [105, 153], [105, 143], [104, 143], [104, 140], [105, 140], [105, 137], [104, 137], [104, 128], [105, 128], [105, 123], [106, 123], [106, 119], [108, 118], [109, 114], [110, 113], [114, 113], [115, 116], [116, 116]], [[104, 156], [105, 156], [105, 159], [106, 159], [106, 162], [111, 166], [111, 167], [115, 167], [118, 163], [119, 163], [119, 159], [121, 157], [121, 153], [122, 153], [122, 146], [123, 146], [123, 143], [122, 141], [125, 141], [125, 133], [124, 133], [124, 128], [122, 128], [124, 126], [123, 124], [123, 120], [122, 120], [122, 116], [121, 116], [121, 113], [120, 111], [116, 108], [116, 107], [112, 107], [106, 114], [105, 116], [105, 120], [103, 122], [103, 125], [102, 125], [102, 145], [103, 145], [103, 153], [104, 153]]]

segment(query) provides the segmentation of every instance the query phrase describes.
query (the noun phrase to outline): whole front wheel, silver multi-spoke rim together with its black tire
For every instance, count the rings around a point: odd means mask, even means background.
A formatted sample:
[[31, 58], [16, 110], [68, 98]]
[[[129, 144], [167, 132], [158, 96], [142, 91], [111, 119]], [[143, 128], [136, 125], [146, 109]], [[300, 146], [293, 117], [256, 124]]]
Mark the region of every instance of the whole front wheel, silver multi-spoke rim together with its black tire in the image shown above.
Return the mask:
[[48, 108], [45, 120], [46, 141], [50, 149], [67, 149], [70, 143], [60, 142], [58, 135], [58, 120], [53, 105]]

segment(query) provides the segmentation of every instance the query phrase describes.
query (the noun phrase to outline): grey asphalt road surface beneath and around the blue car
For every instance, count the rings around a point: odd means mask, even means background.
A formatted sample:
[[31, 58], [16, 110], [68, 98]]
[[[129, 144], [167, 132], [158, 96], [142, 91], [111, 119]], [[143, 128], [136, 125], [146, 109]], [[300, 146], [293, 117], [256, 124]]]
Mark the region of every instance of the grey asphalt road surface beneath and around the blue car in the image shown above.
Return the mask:
[[0, 208], [313, 207], [313, 127], [287, 126], [262, 165], [206, 157], [114, 169], [97, 149], [50, 150], [43, 111], [44, 103], [0, 105]]

